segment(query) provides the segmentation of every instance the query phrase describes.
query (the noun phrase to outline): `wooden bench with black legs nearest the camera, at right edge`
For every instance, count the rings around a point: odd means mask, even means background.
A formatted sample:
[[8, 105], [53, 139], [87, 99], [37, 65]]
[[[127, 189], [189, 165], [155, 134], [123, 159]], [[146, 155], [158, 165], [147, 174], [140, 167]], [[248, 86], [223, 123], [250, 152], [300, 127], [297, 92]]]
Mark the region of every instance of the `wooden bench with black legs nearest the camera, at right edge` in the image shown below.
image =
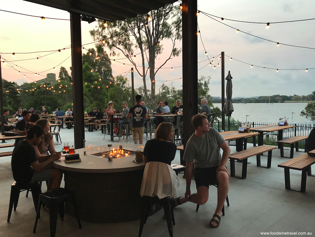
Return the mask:
[[[308, 154], [303, 154], [298, 157], [292, 158], [289, 161], [285, 161], [278, 165], [278, 167], [284, 168], [284, 182], [285, 189], [305, 192], [306, 188], [306, 174], [309, 176], [314, 176], [311, 173], [311, 165], [315, 164], [315, 157]], [[290, 186], [290, 169], [301, 170], [302, 179], [301, 179], [301, 190], [291, 189]]]

